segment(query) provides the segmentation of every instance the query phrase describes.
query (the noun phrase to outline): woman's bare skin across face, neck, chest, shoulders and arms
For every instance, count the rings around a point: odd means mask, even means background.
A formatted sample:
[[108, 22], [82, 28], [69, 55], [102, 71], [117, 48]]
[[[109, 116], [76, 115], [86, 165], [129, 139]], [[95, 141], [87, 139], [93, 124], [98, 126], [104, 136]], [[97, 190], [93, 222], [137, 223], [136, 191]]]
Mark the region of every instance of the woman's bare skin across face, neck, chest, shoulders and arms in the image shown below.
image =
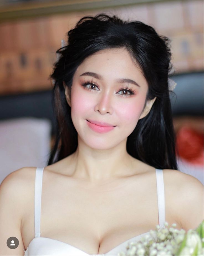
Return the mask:
[[[100, 75], [82, 75], [91, 72]], [[134, 80], [138, 85], [116, 82]], [[82, 86], [92, 80], [96, 86]], [[127, 136], [151, 110], [147, 82], [125, 49], [100, 51], [81, 63], [65, 86], [67, 104], [78, 132], [72, 155], [46, 166], [41, 202], [41, 237], [68, 243], [88, 254], [106, 253], [127, 239], [159, 224], [155, 168], [131, 157]], [[129, 96], [123, 87], [134, 90]], [[126, 94], [126, 96], [121, 96]], [[116, 127], [99, 134], [86, 119]], [[0, 255], [24, 255], [35, 236], [34, 186], [36, 167], [10, 173], [0, 186]], [[203, 185], [178, 170], [164, 169], [165, 220], [177, 228], [196, 228], [203, 220]], [[19, 240], [16, 249], [6, 241]]]

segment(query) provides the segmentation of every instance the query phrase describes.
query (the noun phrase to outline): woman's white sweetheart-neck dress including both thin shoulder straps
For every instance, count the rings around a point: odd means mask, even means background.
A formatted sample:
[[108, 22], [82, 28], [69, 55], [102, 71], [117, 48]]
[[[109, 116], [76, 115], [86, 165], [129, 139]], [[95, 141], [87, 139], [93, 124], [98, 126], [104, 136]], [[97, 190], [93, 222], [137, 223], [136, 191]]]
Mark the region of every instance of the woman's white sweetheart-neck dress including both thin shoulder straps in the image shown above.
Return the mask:
[[[88, 254], [68, 243], [64, 243], [48, 237], [40, 237], [40, 212], [41, 212], [41, 192], [42, 192], [42, 177], [44, 168], [37, 168], [35, 175], [35, 237], [29, 243], [27, 250], [24, 250], [24, 256], [44, 256], [44, 255], [66, 255], [66, 256], [91, 256], [91, 255], [118, 255], [121, 251], [126, 251], [126, 246], [129, 242], [137, 241], [149, 232], [142, 233], [136, 237], [132, 237], [118, 246], [111, 249], [109, 252], [103, 254]], [[164, 198], [164, 179], [163, 170], [156, 169], [157, 180], [157, 198], [158, 198], [158, 212], [159, 212], [159, 226], [164, 228], [165, 222], [165, 198]]]

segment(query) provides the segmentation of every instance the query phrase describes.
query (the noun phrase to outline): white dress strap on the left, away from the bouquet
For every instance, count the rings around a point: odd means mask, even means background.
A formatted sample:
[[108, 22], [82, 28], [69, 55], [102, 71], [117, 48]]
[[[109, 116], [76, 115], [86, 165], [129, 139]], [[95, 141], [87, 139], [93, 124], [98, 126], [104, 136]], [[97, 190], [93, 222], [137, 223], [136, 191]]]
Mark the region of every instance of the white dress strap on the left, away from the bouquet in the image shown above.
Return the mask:
[[40, 237], [40, 212], [43, 170], [44, 168], [37, 168], [35, 173], [35, 238]]

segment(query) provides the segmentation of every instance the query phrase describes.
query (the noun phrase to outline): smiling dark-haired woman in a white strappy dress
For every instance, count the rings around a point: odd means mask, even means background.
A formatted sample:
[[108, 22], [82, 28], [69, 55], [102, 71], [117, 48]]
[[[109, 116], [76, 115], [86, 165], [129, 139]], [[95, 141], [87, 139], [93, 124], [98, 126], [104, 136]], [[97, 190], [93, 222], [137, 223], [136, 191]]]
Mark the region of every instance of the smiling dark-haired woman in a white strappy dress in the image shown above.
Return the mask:
[[203, 185], [177, 170], [169, 40], [98, 14], [81, 18], [57, 53], [56, 142], [48, 166], [1, 184], [3, 254], [117, 255], [164, 221], [196, 228]]

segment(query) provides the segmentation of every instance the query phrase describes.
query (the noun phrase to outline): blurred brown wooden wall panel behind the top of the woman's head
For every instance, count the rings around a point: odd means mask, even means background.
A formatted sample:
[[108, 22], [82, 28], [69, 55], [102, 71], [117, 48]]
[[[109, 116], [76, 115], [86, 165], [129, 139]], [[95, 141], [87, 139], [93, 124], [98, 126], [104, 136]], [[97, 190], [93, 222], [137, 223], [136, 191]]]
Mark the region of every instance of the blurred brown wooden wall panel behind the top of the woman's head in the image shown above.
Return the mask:
[[85, 15], [105, 12], [141, 20], [172, 42], [176, 73], [203, 70], [203, 1], [165, 1], [75, 11], [0, 23], [0, 94], [52, 88], [55, 52], [67, 32]]

